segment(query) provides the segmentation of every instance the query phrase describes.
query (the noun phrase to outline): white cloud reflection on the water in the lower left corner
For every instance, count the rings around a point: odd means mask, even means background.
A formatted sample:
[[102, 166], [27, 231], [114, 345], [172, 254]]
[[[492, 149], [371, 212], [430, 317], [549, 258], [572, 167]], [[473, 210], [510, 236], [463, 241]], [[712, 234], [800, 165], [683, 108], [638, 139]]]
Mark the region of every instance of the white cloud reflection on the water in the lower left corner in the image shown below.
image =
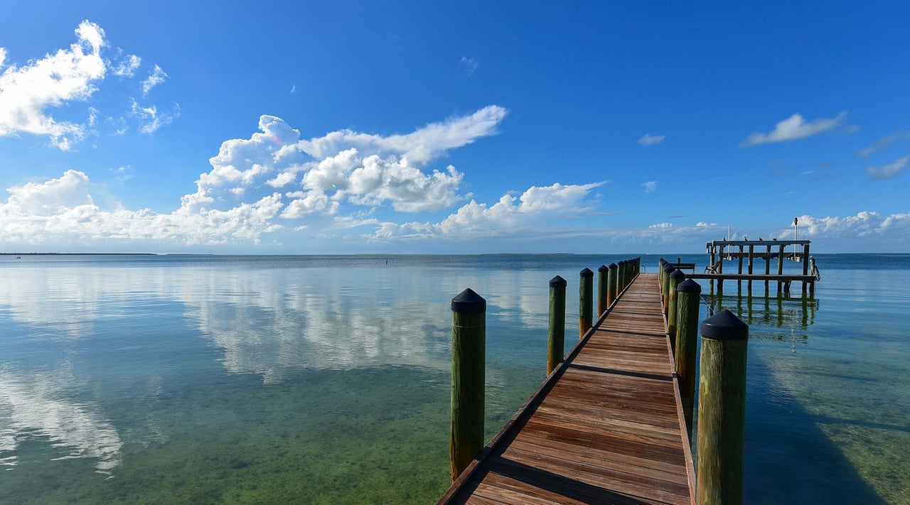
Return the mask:
[[15, 466], [15, 450], [25, 435], [46, 437], [65, 450], [59, 460], [96, 459], [101, 473], [120, 463], [123, 444], [114, 426], [91, 403], [60, 398], [65, 381], [0, 369], [0, 464]]

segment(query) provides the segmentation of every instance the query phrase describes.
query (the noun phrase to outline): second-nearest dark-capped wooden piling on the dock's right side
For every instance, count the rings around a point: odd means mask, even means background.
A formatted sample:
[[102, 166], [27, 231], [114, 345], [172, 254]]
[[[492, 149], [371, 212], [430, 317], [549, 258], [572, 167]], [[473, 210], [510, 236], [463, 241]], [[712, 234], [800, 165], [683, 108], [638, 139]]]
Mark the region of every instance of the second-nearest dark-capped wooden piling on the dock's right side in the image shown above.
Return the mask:
[[690, 436], [695, 403], [695, 356], [698, 354], [701, 296], [702, 286], [691, 278], [683, 280], [676, 287], [676, 375], [679, 377], [682, 414]]

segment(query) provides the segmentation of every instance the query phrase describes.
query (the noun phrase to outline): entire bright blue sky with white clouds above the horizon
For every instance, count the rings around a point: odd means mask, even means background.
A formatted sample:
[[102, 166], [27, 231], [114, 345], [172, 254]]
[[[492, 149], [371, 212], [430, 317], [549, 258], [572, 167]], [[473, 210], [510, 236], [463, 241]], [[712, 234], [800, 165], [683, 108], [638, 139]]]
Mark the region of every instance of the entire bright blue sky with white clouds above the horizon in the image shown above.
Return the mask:
[[910, 251], [910, 5], [5, 4], [0, 249]]

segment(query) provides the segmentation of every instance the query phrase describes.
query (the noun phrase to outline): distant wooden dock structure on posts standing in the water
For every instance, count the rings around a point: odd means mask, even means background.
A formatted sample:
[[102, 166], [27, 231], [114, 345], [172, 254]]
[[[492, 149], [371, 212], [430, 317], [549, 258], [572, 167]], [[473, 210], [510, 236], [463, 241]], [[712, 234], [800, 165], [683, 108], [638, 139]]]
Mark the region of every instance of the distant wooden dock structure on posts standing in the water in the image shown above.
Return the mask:
[[[770, 283], [772, 281], [777, 283], [778, 296], [782, 292], [789, 294], [791, 283], [796, 281], [803, 283], [803, 295], [814, 298], [815, 282], [821, 280], [822, 276], [815, 266], [815, 258], [809, 255], [811, 243], [811, 240], [712, 240], [705, 244], [711, 262], [704, 268], [704, 272], [694, 272], [693, 264], [679, 264], [680, 266], [676, 268], [692, 268], [693, 273], [687, 273], [686, 278], [708, 279], [712, 291], [716, 281], [718, 296], [723, 296], [724, 280], [735, 280], [740, 290], [743, 289], [743, 280], [746, 281], [746, 289], [750, 296], [753, 281], [764, 282], [765, 296], [771, 294]], [[793, 246], [793, 250], [788, 251], [787, 248], [790, 246]], [[755, 263], [758, 259], [764, 260], [763, 273], [756, 271]], [[772, 263], [775, 260], [777, 271], [771, 273]], [[723, 269], [724, 261], [729, 263], [727, 271]], [[801, 263], [802, 273], [784, 274], [784, 261]], [[736, 266], [735, 271], [733, 271], [733, 265]], [[743, 271], [743, 267], [745, 271]]]

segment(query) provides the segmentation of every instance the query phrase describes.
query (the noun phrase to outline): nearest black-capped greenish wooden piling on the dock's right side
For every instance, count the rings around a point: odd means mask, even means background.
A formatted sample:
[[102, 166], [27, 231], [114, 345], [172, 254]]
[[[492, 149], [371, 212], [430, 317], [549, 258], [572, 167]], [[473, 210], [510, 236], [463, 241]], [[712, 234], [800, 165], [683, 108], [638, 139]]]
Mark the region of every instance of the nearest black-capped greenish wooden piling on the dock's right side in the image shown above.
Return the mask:
[[743, 502], [749, 327], [724, 309], [705, 319], [701, 332], [696, 502], [738, 504]]

